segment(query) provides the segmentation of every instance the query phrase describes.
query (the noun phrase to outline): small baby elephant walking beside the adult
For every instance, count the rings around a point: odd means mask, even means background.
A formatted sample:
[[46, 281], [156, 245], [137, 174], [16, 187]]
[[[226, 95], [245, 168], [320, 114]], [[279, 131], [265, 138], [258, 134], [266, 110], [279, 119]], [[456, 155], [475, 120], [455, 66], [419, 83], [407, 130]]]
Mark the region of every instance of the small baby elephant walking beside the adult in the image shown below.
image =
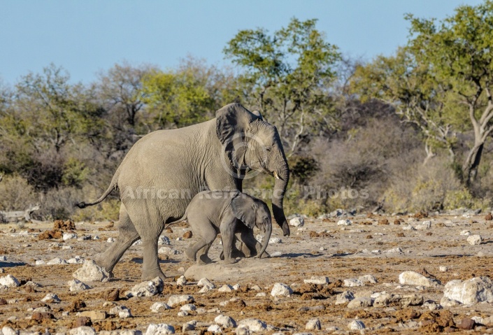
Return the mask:
[[198, 238], [197, 242], [187, 248], [185, 254], [188, 259], [199, 264], [212, 262], [207, 253], [218, 233], [221, 233], [224, 263], [235, 262], [231, 257], [231, 251], [236, 233], [236, 219], [241, 220], [250, 229], [257, 227], [265, 233], [264, 244], [257, 257], [262, 257], [271, 238], [271, 212], [267, 205], [264, 201], [237, 190], [200, 192], [190, 201], [180, 221], [185, 218], [192, 228], [193, 235]]

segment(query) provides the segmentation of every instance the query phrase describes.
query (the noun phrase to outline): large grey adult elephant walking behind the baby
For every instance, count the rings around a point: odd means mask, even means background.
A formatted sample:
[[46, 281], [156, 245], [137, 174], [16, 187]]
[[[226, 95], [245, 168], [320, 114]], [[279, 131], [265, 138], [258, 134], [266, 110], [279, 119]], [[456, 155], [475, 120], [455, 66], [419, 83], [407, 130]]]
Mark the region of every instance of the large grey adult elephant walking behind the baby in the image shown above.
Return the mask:
[[[157, 257], [157, 241], [164, 224], [178, 220], [195, 194], [209, 190], [241, 190], [248, 171], [276, 177], [272, 212], [274, 220], [290, 235], [283, 199], [290, 170], [276, 127], [262, 115], [240, 104], [229, 104], [215, 119], [190, 127], [159, 130], [137, 141], [118, 167], [99, 204], [113, 190], [120, 190], [120, 224], [117, 241], [96, 262], [111, 272], [113, 266], [139, 238], [143, 245], [142, 278], [165, 278]], [[238, 234], [237, 234], [238, 236]], [[240, 234], [247, 257], [261, 250], [252, 229]]]

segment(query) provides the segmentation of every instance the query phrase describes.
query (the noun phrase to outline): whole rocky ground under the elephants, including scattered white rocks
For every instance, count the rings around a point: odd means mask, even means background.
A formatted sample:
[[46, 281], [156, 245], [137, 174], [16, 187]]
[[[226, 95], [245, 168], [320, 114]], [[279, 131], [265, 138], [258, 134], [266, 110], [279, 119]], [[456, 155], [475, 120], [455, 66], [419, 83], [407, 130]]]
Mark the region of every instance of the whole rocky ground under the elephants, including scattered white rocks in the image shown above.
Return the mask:
[[[85, 260], [117, 237], [117, 222], [2, 224], [0, 329], [4, 335], [169, 334], [171, 327], [152, 326], [166, 324], [197, 334], [489, 334], [493, 221], [487, 219], [307, 218], [290, 237], [273, 229], [270, 258], [223, 265], [217, 240], [210, 250], [216, 261], [203, 266], [185, 258], [194, 237], [182, 223], [165, 231], [159, 245], [169, 278], [137, 287], [138, 244], [115, 266], [115, 278], [72, 281]], [[197, 285], [201, 278], [210, 283]]]

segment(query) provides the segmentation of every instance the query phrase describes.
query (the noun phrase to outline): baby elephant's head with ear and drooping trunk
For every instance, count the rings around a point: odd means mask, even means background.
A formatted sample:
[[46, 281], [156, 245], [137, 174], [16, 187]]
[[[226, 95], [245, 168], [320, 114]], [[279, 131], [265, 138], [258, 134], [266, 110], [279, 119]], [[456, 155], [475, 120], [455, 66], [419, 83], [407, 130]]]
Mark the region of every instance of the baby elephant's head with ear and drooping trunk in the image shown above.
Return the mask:
[[262, 250], [257, 257], [262, 257], [272, 233], [271, 211], [264, 201], [250, 197], [245, 193], [238, 193], [231, 199], [231, 210], [238, 220], [241, 220], [250, 229], [257, 227], [264, 234], [264, 243]]

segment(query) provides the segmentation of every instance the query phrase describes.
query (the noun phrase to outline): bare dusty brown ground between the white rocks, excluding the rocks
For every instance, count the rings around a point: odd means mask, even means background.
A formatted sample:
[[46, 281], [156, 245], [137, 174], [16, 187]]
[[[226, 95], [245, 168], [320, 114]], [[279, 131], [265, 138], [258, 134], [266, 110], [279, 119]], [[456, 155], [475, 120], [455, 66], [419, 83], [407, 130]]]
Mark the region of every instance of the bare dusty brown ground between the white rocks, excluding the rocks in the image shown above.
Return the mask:
[[[379, 220], [387, 218], [390, 224], [378, 224]], [[396, 218], [403, 219], [402, 224], [393, 224]], [[77, 311], [106, 311], [110, 306], [103, 306], [106, 302], [106, 294], [115, 288], [120, 288], [120, 301], [114, 304], [127, 306], [131, 309], [133, 318], [119, 319], [108, 316], [105, 320], [93, 321], [92, 327], [97, 331], [113, 329], [139, 329], [145, 332], [150, 323], [168, 323], [181, 332], [182, 325], [190, 320], [203, 322], [199, 324], [199, 331], [205, 332], [207, 325], [212, 324], [215, 316], [220, 313], [229, 315], [236, 322], [245, 318], [258, 318], [271, 327], [268, 333], [307, 332], [305, 325], [313, 318], [320, 319], [322, 330], [310, 331], [312, 334], [344, 334], [348, 331], [348, 324], [359, 318], [366, 325], [366, 334], [386, 334], [390, 332], [399, 334], [421, 334], [429, 331], [427, 327], [406, 327], [411, 316], [428, 315], [428, 309], [423, 306], [406, 308], [402, 311], [399, 307], [386, 308], [359, 308], [348, 309], [346, 305], [335, 305], [336, 294], [344, 290], [350, 290], [357, 294], [364, 292], [390, 292], [403, 294], [406, 292], [422, 294], [424, 300], [433, 300], [439, 303], [443, 297], [441, 287], [399, 287], [399, 273], [407, 270], [422, 271], [436, 276], [445, 284], [452, 279], [469, 279], [474, 276], [491, 276], [492, 274], [492, 221], [485, 221], [484, 215], [464, 216], [436, 216], [431, 218], [414, 219], [408, 216], [390, 217], [375, 216], [366, 218], [361, 215], [350, 218], [352, 225], [341, 227], [337, 220], [308, 219], [304, 227], [292, 227], [291, 237], [283, 237], [282, 231], [275, 227], [273, 236], [282, 238], [282, 243], [269, 245], [267, 249], [271, 254], [280, 252], [278, 257], [266, 259], [241, 259], [236, 264], [223, 266], [220, 262], [206, 266], [195, 266], [185, 259], [183, 250], [194, 241], [194, 237], [177, 241], [183, 236], [187, 227], [185, 225], [172, 227], [173, 232], [164, 233], [171, 239], [171, 247], [180, 251], [178, 255], [168, 257], [162, 255], [161, 266], [170, 276], [166, 281], [164, 291], [155, 297], [124, 298], [123, 292], [141, 282], [141, 246], [133, 246], [128, 250], [120, 262], [115, 266], [115, 278], [107, 283], [87, 284], [92, 289], [83, 292], [70, 292], [69, 280], [73, 279], [72, 273], [81, 264], [65, 265], [34, 265], [37, 259], [48, 262], [55, 257], [69, 259], [79, 255], [91, 259], [101, 250], [108, 247], [108, 237], [117, 236], [117, 224], [108, 227], [108, 222], [77, 222], [75, 232], [78, 236], [99, 236], [99, 240], [63, 241], [58, 239], [38, 240], [38, 232], [19, 234], [28, 229], [41, 229], [45, 231], [53, 228], [52, 222], [29, 223], [24, 227], [17, 224], [3, 224], [0, 226], [0, 256], [5, 255], [6, 261], [0, 261], [0, 268], [4, 272], [0, 276], [11, 274], [24, 281], [32, 280], [41, 287], [31, 290], [27, 285], [0, 290], [0, 298], [6, 299], [8, 304], [0, 306], [0, 328], [8, 325], [14, 329], [28, 329], [31, 332], [45, 332], [48, 329], [52, 334], [66, 332], [76, 325]], [[418, 224], [423, 220], [431, 221], [431, 229], [409, 231], [403, 230], [409, 223]], [[15, 233], [9, 232], [14, 228]], [[483, 236], [481, 245], [469, 245], [467, 236], [461, 236], [463, 230], [471, 231], [471, 234]], [[256, 231], [257, 232], [257, 231]], [[328, 234], [327, 234], [328, 232]], [[63, 250], [60, 246], [71, 245], [72, 250]], [[401, 248], [402, 253], [384, 252], [394, 248]], [[217, 259], [221, 245], [216, 241], [211, 248], [210, 256]], [[362, 252], [362, 250], [365, 250]], [[380, 250], [380, 254], [374, 254], [372, 250]], [[240, 290], [222, 293], [217, 289], [200, 294], [197, 281], [190, 278], [185, 287], [178, 287], [173, 277], [180, 276], [187, 269], [194, 266], [188, 273], [195, 276], [207, 276], [217, 287], [223, 284], [241, 285]], [[441, 272], [439, 266], [448, 266], [448, 271]], [[357, 278], [362, 275], [375, 276], [378, 283], [362, 287], [340, 287], [338, 280]], [[304, 285], [303, 279], [310, 276], [327, 276], [331, 285], [316, 286]], [[294, 290], [292, 297], [271, 297], [271, 288], [274, 283], [285, 283]], [[252, 290], [254, 285], [259, 285], [261, 291]], [[265, 292], [264, 297], [257, 297], [257, 293]], [[32, 311], [28, 308], [43, 306], [41, 299], [45, 294], [55, 293], [62, 300], [58, 304], [48, 304], [52, 319], [31, 320]], [[178, 317], [179, 308], [172, 308], [162, 313], [152, 313], [150, 306], [156, 301], [167, 302], [171, 294], [191, 294], [197, 307], [205, 308], [209, 313]], [[220, 304], [231, 298], [240, 300], [229, 304]], [[81, 300], [85, 307], [74, 308], [74, 302]], [[1, 301], [1, 300], [0, 300]], [[1, 304], [1, 302], [0, 302]], [[316, 307], [317, 306], [317, 307]], [[316, 307], [309, 308], [305, 307]], [[412, 309], [418, 313], [410, 313]], [[69, 311], [69, 315], [62, 313]], [[445, 308], [435, 313], [451, 311], [453, 319], [458, 324], [462, 318], [469, 316], [490, 317], [493, 315], [491, 304], [476, 304], [474, 306], [456, 306]], [[408, 316], [403, 316], [408, 315]], [[431, 318], [440, 318], [441, 315], [431, 315]], [[422, 319], [423, 320], [423, 317]], [[420, 318], [415, 321], [419, 322]], [[340, 330], [336, 330], [336, 328]], [[431, 329], [441, 330], [441, 329]], [[493, 325], [476, 327], [476, 332], [493, 333]], [[234, 332], [234, 329], [226, 329], [224, 332]], [[354, 331], [353, 331], [354, 332]], [[359, 333], [359, 331], [356, 331]], [[462, 331], [465, 332], [465, 331]], [[469, 331], [471, 332], [471, 331]], [[472, 331], [474, 332], [474, 331]]]

